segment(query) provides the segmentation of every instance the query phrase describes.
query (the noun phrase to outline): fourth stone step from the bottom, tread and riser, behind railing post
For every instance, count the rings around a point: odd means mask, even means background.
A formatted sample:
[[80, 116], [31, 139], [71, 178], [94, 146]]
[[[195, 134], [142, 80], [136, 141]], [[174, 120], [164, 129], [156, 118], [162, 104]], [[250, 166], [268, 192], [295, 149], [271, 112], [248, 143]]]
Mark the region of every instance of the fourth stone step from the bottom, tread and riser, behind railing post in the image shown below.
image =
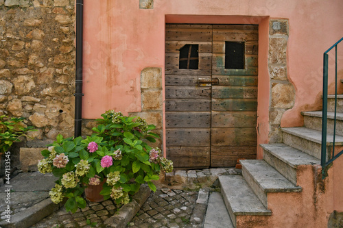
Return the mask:
[[[316, 131], [307, 127], [287, 127], [282, 128], [283, 143], [303, 151], [311, 156], [320, 159], [322, 131]], [[327, 155], [331, 154], [333, 145], [333, 136], [327, 136]], [[339, 150], [343, 145], [343, 137], [335, 137], [335, 149]], [[328, 153], [328, 151], [330, 153]], [[327, 157], [328, 158], [328, 157]]]

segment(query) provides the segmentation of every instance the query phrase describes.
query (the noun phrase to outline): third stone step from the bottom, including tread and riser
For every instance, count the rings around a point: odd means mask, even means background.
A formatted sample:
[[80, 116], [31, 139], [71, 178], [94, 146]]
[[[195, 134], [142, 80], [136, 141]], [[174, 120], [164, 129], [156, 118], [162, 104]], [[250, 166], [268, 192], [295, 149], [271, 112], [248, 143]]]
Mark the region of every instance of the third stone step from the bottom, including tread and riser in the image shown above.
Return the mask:
[[263, 160], [273, 166], [289, 181], [296, 184], [296, 167], [300, 165], [320, 164], [316, 157], [303, 153], [283, 143], [260, 144], [263, 148]]

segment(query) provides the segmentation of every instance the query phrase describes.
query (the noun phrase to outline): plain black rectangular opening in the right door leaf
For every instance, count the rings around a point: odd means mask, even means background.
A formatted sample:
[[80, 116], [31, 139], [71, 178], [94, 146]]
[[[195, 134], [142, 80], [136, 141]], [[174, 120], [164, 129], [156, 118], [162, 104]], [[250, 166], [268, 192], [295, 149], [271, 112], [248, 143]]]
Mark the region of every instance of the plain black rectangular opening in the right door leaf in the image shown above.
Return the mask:
[[244, 42], [225, 42], [225, 68], [244, 69]]

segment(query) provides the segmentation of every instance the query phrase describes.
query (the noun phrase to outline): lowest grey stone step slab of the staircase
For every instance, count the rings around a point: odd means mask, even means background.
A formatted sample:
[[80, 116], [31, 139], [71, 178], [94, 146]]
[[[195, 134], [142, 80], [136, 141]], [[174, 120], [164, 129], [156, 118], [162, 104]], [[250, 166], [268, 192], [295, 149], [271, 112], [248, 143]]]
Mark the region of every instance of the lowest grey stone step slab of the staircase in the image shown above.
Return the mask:
[[240, 175], [220, 176], [218, 179], [222, 187], [222, 196], [234, 227], [236, 227], [236, 216], [265, 216], [272, 214], [259, 201], [248, 183]]

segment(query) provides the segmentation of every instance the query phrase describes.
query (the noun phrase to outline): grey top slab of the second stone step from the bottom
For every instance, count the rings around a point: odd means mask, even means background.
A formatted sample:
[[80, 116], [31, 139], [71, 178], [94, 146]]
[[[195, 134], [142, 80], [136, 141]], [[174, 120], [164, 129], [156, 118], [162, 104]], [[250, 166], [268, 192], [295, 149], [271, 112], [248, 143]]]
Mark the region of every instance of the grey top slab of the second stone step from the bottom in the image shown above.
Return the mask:
[[264, 160], [241, 160], [241, 165], [262, 192], [301, 192], [303, 190]]

